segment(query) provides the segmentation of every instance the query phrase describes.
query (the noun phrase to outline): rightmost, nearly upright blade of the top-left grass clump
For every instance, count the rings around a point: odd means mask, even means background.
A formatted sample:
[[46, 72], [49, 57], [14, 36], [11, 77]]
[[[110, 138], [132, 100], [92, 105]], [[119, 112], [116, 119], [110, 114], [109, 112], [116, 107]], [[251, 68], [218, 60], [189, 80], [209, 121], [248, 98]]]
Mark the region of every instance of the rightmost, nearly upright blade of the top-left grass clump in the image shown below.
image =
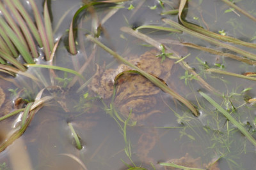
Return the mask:
[[50, 18], [48, 6], [47, 6], [47, 1], [45, 1], [44, 3], [44, 25], [45, 25], [45, 31], [49, 41], [49, 47], [52, 52], [54, 43], [53, 43], [53, 35], [52, 35], [52, 24], [51, 24], [51, 18]]

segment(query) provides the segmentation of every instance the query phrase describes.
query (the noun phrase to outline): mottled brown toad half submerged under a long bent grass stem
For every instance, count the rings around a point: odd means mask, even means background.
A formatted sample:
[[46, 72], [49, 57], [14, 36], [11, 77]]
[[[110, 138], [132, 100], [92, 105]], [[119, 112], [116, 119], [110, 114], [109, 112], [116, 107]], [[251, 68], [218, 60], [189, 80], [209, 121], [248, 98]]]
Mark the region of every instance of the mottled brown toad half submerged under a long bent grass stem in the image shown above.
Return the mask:
[[[150, 50], [137, 59], [129, 60], [129, 62], [166, 81], [172, 74], [171, 70], [174, 62], [170, 59], [161, 62], [161, 59], [156, 55], [156, 50]], [[104, 72], [98, 67], [97, 73], [88, 88], [102, 99], [109, 99], [113, 95], [115, 83], [114, 104], [124, 117], [129, 116], [131, 109], [131, 119], [134, 121], [143, 120], [156, 113], [156, 111], [150, 111], [150, 109], [156, 105], [155, 95], [160, 92], [160, 89], [144, 76], [134, 73], [131, 67], [125, 64], [120, 64], [116, 69], [107, 69]]]

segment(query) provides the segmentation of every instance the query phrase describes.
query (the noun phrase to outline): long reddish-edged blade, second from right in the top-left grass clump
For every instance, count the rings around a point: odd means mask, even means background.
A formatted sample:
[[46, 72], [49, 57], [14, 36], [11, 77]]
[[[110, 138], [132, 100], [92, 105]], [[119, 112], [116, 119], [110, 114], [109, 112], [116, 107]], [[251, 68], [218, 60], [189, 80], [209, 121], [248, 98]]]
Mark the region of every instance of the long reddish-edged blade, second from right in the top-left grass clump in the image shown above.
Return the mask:
[[36, 25], [38, 27], [38, 32], [40, 34], [40, 38], [42, 39], [42, 43], [44, 46], [45, 60], [49, 60], [50, 54], [51, 54], [51, 50], [49, 47], [49, 39], [47, 38], [40, 12], [38, 11], [38, 8], [37, 8], [34, 0], [28, 0], [28, 1], [31, 4], [31, 8], [34, 11]]

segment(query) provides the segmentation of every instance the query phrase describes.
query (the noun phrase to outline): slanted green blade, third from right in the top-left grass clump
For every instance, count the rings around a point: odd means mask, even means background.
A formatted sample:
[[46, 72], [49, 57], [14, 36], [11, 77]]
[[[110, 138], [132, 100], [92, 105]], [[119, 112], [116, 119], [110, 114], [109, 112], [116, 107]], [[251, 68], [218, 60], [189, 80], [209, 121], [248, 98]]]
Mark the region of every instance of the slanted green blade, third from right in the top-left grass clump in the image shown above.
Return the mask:
[[26, 21], [26, 24], [28, 24], [28, 27], [29, 27], [30, 31], [32, 32], [34, 38], [36, 39], [38, 45], [40, 47], [42, 47], [43, 46], [42, 39], [40, 38], [39, 32], [38, 32], [33, 20], [31, 20], [31, 18], [29, 17], [28, 12], [22, 6], [22, 4], [20, 3], [19, 0], [9, 0], [9, 1], [12, 1], [15, 8], [20, 12], [20, 15], [22, 15], [22, 17]]

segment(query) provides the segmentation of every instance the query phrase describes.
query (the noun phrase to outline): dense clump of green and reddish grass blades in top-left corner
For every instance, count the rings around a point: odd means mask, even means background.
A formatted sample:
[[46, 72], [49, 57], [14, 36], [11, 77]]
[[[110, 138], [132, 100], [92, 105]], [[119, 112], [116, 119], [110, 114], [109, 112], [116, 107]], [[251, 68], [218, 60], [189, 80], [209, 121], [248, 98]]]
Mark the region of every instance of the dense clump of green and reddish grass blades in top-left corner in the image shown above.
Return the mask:
[[[17, 67], [20, 71], [26, 71], [26, 67], [17, 60], [19, 54], [25, 63], [34, 64], [34, 59], [39, 56], [37, 46], [44, 48], [45, 60], [50, 59], [54, 46], [47, 1], [44, 4], [44, 22], [35, 1], [29, 0], [29, 4], [33, 16], [29, 16], [19, 0], [4, 0], [0, 3], [3, 13], [3, 17], [0, 17], [0, 62]], [[36, 25], [31, 17], [35, 17]]]

